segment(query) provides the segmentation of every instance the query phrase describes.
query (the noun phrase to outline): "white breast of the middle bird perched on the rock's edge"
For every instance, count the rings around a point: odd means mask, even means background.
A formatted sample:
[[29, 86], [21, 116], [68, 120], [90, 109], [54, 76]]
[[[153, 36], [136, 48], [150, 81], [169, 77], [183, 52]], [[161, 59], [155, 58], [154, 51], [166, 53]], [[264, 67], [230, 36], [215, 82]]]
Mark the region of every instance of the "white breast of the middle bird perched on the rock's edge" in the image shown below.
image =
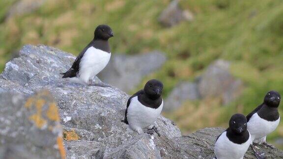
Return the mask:
[[131, 99], [131, 103], [127, 111], [127, 120], [131, 129], [136, 130], [138, 128], [145, 128], [150, 126], [158, 116], [160, 115], [163, 108], [163, 101], [161, 106], [154, 109], [151, 107], [143, 106], [138, 96]]

